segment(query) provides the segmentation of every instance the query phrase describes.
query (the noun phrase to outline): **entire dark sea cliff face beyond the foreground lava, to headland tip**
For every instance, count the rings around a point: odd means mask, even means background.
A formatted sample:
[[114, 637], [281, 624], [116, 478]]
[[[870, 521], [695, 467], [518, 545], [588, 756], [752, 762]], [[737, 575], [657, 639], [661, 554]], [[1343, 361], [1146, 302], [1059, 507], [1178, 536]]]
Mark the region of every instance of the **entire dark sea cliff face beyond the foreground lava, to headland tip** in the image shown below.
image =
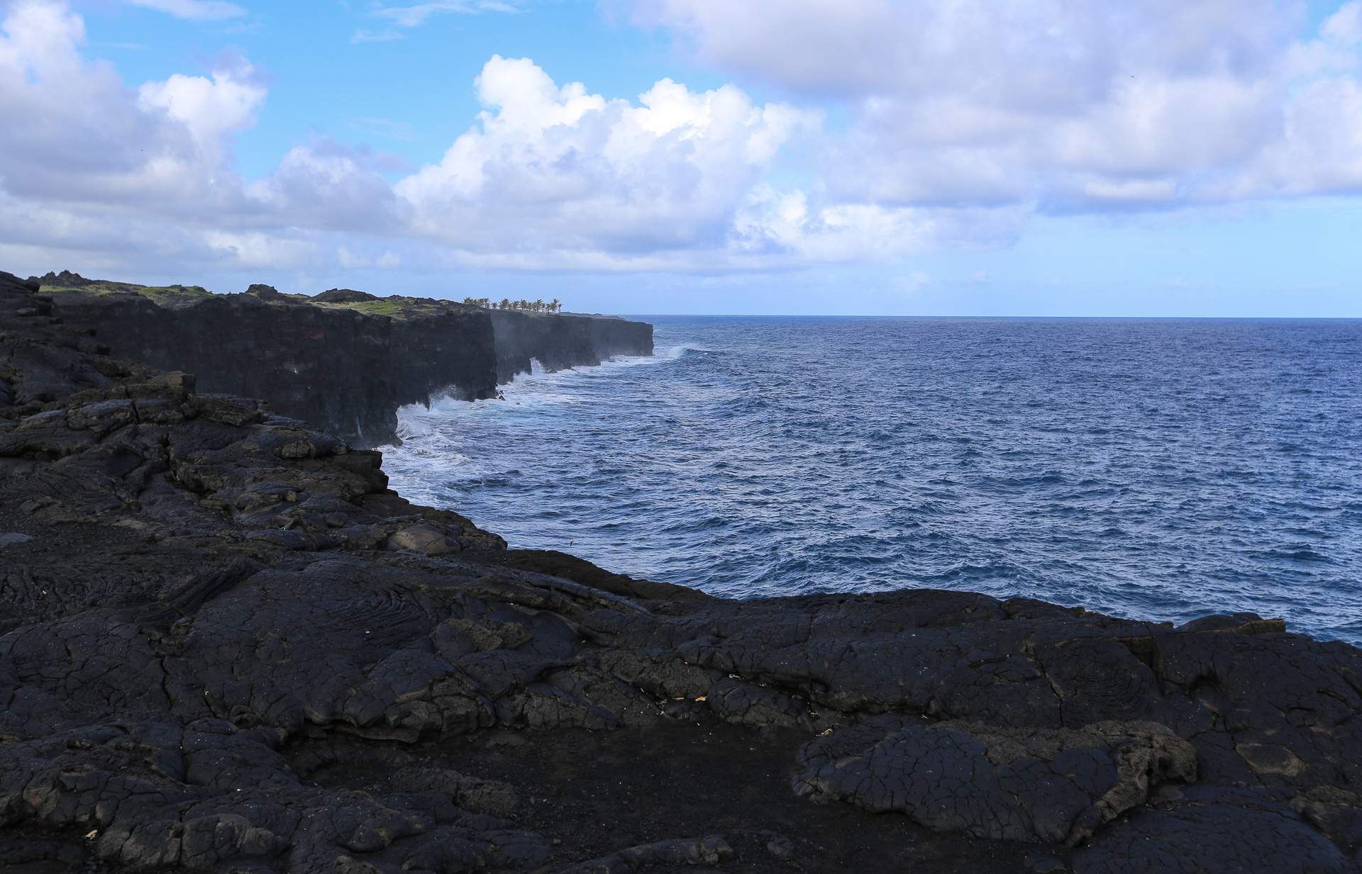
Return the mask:
[[[440, 395], [494, 398], [498, 383], [530, 370], [531, 358], [560, 370], [652, 353], [648, 324], [449, 301], [400, 298], [385, 314], [317, 306], [266, 286], [252, 294], [168, 295], [165, 305], [136, 291], [53, 290], [52, 297], [54, 316], [97, 332], [113, 355], [192, 372], [202, 392], [263, 398], [360, 447], [395, 440], [402, 406]], [[321, 302], [395, 300], [364, 297]]]

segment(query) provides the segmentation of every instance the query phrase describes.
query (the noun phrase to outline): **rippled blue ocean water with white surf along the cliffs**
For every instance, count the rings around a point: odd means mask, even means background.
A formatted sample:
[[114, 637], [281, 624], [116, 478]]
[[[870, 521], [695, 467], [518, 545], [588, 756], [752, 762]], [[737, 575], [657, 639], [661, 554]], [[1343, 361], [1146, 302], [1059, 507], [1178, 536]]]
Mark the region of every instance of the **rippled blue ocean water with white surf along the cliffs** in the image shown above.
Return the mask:
[[402, 412], [394, 487], [727, 596], [932, 587], [1362, 641], [1362, 321], [644, 317]]

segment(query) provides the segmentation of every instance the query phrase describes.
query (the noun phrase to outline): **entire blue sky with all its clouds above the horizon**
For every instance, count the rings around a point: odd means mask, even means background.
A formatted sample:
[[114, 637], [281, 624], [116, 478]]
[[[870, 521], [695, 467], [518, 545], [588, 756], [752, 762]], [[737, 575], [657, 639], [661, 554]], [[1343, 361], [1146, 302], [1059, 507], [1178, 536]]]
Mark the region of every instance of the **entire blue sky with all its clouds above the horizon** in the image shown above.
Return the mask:
[[0, 270], [1362, 317], [1362, 0], [0, 0]]

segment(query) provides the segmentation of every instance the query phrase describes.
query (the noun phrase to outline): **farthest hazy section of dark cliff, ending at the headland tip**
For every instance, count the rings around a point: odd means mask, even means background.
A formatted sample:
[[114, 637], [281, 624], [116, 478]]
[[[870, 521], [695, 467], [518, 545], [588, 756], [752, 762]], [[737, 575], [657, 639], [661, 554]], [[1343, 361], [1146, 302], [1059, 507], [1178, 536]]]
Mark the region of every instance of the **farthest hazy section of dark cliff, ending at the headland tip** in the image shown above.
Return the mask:
[[643, 321], [492, 310], [492, 325], [498, 383], [530, 373], [531, 358], [552, 373], [652, 354], [652, 325]]

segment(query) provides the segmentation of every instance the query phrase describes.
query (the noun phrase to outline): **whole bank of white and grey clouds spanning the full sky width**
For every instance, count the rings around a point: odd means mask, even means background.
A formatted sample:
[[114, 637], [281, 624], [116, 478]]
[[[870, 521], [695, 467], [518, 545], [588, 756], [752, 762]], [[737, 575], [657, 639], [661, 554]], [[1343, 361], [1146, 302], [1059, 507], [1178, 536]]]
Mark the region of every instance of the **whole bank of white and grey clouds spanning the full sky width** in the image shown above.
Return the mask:
[[[185, 18], [227, 3], [138, 0]], [[380, 10], [415, 26], [494, 8]], [[642, 0], [737, 84], [635, 101], [492, 57], [485, 112], [390, 181], [315, 139], [267, 177], [233, 137], [266, 109], [252, 64], [128, 87], [79, 15], [0, 23], [0, 255], [227, 270], [726, 271], [1005, 245], [1036, 212], [1173, 210], [1362, 189], [1362, 11], [1301, 37], [1271, 0]], [[846, 106], [832, 131], [820, 108]], [[817, 172], [780, 185], [798, 144]]]

